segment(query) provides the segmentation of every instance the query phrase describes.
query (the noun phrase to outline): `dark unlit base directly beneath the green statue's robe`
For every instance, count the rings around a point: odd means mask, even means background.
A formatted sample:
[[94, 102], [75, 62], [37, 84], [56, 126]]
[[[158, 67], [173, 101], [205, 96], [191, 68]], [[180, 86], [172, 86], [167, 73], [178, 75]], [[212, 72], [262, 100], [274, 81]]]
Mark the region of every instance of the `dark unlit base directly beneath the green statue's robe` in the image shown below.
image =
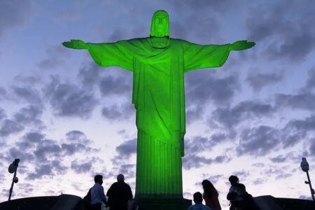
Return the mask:
[[141, 197], [136, 200], [139, 210], [187, 210], [192, 204], [185, 198]]

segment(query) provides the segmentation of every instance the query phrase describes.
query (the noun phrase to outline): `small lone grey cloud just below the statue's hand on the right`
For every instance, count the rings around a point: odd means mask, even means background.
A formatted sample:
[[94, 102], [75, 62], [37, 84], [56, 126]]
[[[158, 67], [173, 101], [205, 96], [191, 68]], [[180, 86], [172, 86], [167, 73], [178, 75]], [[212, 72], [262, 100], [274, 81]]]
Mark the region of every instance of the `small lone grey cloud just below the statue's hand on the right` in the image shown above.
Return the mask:
[[274, 85], [275, 83], [278, 83], [282, 80], [282, 78], [283, 76], [278, 73], [250, 73], [247, 76], [246, 81], [251, 87], [253, 87], [253, 90], [259, 91], [267, 85]]

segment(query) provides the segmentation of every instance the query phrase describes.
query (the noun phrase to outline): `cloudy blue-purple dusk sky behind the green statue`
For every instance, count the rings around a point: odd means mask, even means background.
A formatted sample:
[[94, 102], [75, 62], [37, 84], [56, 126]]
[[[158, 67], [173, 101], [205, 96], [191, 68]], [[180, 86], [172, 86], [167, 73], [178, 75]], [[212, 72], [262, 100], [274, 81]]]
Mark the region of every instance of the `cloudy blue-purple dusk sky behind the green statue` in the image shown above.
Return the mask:
[[146, 37], [155, 10], [170, 33], [199, 44], [247, 39], [219, 69], [186, 73], [184, 197], [209, 179], [226, 207], [228, 177], [253, 196], [310, 199], [315, 181], [315, 3], [311, 0], [0, 1], [0, 202], [68, 193], [83, 197], [94, 174], [107, 190], [123, 173], [134, 192], [137, 148], [132, 73], [101, 68], [91, 43]]

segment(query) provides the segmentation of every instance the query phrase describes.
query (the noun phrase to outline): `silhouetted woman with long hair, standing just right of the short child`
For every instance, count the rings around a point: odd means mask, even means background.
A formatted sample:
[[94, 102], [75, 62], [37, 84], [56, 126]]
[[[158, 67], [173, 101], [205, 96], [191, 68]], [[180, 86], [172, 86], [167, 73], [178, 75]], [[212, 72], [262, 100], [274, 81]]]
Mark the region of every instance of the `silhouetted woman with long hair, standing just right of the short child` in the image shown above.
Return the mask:
[[204, 202], [211, 210], [221, 210], [220, 202], [218, 201], [218, 191], [214, 185], [207, 179], [202, 181], [204, 188]]

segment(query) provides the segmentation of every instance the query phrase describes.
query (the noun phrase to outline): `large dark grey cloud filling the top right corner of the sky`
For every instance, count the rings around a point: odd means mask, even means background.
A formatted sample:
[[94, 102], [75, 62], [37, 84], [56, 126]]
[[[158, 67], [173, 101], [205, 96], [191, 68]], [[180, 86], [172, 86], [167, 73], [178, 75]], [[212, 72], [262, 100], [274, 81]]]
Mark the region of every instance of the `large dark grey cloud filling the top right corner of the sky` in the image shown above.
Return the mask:
[[[315, 44], [315, 32], [309, 27], [315, 20], [311, 12], [314, 6], [313, 1], [303, 4], [299, 1], [276, 1], [266, 8], [251, 8], [251, 16], [247, 19], [249, 39], [260, 43], [266, 41], [265, 55], [272, 59], [303, 60]], [[298, 20], [293, 18], [295, 15]]]

